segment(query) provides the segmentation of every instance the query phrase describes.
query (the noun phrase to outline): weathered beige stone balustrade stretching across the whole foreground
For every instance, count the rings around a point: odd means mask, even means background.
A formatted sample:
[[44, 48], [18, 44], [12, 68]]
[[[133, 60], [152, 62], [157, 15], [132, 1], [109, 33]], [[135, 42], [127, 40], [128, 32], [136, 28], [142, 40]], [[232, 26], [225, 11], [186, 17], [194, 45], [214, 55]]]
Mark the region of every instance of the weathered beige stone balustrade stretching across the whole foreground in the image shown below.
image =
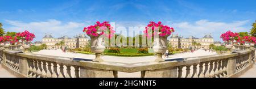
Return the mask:
[[[1, 65], [17, 77], [79, 78], [119, 77], [119, 73], [132, 77], [222, 78], [238, 77], [253, 65], [254, 49], [240, 48], [232, 54], [183, 58], [183, 61], [121, 63], [18, 53], [1, 49]], [[81, 61], [82, 60], [82, 61]], [[136, 75], [138, 74], [138, 76]]]

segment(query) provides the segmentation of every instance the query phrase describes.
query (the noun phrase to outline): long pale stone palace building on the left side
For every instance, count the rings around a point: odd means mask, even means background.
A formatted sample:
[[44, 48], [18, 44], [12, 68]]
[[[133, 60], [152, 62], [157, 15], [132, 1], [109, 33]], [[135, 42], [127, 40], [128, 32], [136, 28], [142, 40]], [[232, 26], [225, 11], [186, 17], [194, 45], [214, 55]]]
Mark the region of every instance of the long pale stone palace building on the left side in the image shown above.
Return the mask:
[[52, 35], [46, 34], [42, 39], [42, 44], [46, 44], [47, 48], [59, 49], [61, 45], [56, 45], [56, 43], [60, 43], [60, 41], [64, 41], [63, 46], [67, 46], [67, 48], [82, 48], [88, 45], [88, 37], [85, 35], [79, 34], [73, 38], [63, 36], [59, 38], [54, 38]]

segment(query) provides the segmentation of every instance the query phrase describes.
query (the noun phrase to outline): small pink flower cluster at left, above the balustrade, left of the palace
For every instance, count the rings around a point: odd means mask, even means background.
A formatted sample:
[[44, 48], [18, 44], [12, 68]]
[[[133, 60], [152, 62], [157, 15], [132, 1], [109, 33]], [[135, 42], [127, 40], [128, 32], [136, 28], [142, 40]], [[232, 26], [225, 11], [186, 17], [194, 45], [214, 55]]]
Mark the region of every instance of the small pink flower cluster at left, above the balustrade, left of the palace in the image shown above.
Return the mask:
[[24, 31], [24, 32], [16, 33], [15, 38], [16, 38], [16, 40], [22, 40], [22, 41], [30, 42], [35, 38], [35, 35], [34, 35], [34, 33]]

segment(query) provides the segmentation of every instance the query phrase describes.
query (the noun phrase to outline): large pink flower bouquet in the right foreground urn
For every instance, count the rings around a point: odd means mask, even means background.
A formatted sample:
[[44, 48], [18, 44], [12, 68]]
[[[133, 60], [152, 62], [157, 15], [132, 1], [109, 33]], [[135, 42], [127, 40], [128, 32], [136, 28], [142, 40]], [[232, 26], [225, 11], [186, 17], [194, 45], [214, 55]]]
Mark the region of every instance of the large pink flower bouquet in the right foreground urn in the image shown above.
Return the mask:
[[[156, 29], [155, 29], [156, 27]], [[157, 29], [158, 28], [158, 29]], [[158, 30], [158, 31], [156, 31]], [[156, 33], [158, 32], [158, 33]], [[160, 36], [169, 36], [171, 33], [174, 32], [174, 28], [164, 26], [162, 22], [150, 22], [147, 27], [145, 27], [145, 30], [143, 31], [144, 36], [151, 37], [154, 35], [160, 35]]]

